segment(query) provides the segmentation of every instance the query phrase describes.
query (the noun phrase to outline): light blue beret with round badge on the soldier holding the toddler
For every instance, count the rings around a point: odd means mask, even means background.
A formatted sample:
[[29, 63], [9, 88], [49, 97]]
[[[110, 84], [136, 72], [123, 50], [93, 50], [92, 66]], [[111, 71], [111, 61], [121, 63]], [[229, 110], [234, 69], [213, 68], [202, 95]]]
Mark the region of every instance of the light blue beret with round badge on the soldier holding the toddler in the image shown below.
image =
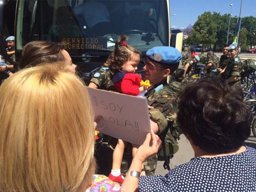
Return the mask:
[[176, 64], [182, 59], [178, 49], [167, 46], [153, 47], [146, 52], [146, 55], [149, 59], [164, 64]]

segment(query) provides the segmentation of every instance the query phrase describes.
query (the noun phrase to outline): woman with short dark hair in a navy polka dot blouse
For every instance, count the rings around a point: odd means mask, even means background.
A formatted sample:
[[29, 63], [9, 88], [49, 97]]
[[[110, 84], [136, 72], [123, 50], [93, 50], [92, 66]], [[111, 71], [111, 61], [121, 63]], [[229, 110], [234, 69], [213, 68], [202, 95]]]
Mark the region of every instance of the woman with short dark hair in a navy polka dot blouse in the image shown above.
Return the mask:
[[195, 157], [165, 176], [141, 176], [139, 191], [256, 191], [256, 149], [244, 145], [252, 115], [242, 90], [204, 78], [179, 100], [177, 122]]

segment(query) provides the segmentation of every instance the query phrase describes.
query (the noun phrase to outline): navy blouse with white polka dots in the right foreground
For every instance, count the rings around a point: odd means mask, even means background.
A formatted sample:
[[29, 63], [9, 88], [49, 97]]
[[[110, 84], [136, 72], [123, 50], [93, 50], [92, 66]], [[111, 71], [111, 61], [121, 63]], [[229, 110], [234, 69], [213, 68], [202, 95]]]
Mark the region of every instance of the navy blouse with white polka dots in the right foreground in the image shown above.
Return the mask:
[[165, 176], [141, 176], [140, 192], [256, 192], [256, 149], [236, 155], [195, 157]]

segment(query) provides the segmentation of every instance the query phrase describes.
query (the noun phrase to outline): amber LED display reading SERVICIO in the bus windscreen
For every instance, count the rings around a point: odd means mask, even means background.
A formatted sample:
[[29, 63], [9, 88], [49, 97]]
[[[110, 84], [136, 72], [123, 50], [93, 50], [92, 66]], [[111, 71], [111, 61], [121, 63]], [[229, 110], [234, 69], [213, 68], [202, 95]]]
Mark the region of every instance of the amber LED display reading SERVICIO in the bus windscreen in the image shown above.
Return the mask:
[[62, 38], [64, 49], [106, 49], [107, 38]]

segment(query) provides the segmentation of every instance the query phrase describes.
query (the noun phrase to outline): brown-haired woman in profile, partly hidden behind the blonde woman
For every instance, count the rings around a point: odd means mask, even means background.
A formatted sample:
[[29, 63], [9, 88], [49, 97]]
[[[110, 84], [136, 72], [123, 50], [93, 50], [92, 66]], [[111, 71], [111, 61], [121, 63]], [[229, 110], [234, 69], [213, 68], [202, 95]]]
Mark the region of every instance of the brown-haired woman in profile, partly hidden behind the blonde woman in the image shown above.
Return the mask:
[[23, 69], [56, 61], [68, 62], [69, 70], [72, 73], [76, 72], [76, 65], [61, 44], [51, 41], [31, 41], [23, 47], [19, 67]]

